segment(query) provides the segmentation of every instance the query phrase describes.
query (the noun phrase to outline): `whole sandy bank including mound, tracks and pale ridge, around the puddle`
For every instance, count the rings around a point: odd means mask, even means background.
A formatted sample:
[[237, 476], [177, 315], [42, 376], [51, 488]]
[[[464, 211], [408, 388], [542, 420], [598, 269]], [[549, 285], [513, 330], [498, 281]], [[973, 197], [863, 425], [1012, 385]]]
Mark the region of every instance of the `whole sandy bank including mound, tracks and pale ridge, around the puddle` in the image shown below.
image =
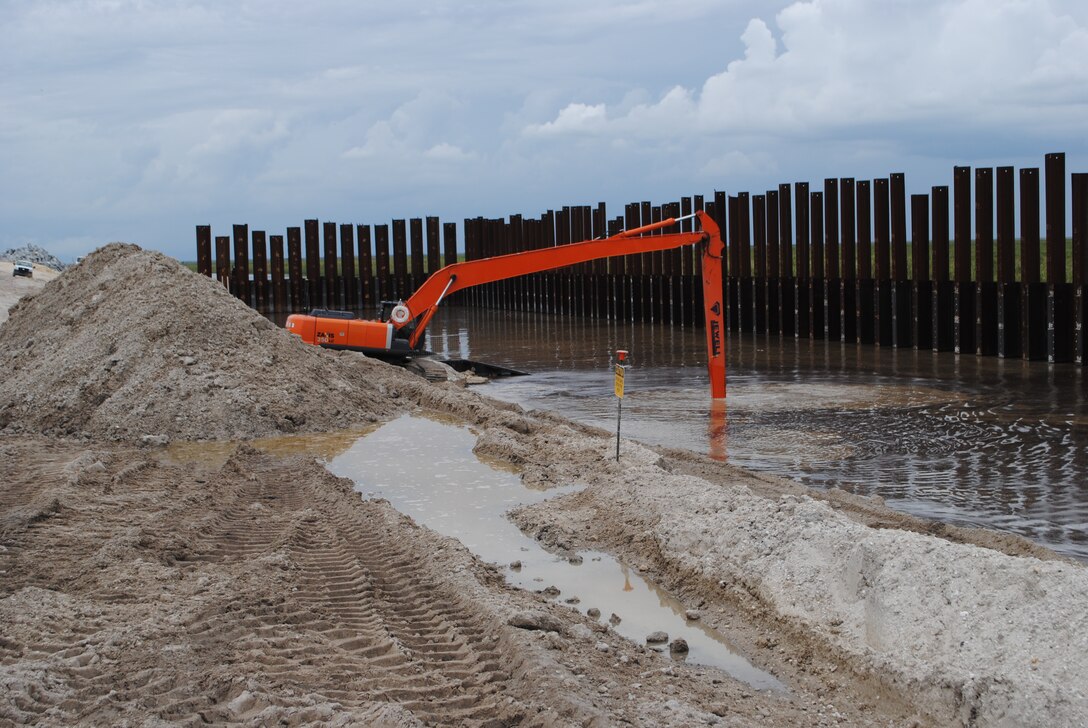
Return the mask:
[[[1088, 719], [1083, 566], [692, 454], [628, 443], [617, 465], [604, 433], [307, 347], [157, 254], [109, 246], [22, 300], [0, 369], [0, 721]], [[585, 483], [519, 523], [652, 572], [790, 693], [508, 589], [311, 461], [243, 449], [212, 468], [159, 447], [417, 408], [472, 424], [534, 483]]]

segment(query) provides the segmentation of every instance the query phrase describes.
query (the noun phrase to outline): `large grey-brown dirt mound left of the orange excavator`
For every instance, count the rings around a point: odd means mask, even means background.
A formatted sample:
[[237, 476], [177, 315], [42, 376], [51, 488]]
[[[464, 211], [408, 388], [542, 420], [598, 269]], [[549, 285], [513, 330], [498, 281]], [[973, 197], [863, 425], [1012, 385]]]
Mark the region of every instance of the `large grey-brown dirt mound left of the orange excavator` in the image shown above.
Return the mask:
[[302, 344], [159, 252], [111, 244], [0, 328], [0, 430], [108, 440], [349, 428], [399, 408], [411, 375]]

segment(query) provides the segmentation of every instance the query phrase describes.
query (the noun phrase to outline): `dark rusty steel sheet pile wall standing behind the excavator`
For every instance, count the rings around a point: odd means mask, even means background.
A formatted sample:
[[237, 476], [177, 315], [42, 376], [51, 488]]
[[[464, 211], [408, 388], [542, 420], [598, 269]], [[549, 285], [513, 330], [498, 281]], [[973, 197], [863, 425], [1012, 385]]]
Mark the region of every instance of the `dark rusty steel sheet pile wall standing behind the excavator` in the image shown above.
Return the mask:
[[[951, 190], [935, 186], [910, 200], [904, 176], [890, 174], [638, 201], [615, 218], [604, 202], [539, 218], [470, 218], [463, 250], [475, 260], [569, 245], [703, 209], [726, 236], [731, 331], [1084, 365], [1088, 174], [1071, 181], [1072, 240], [1065, 156], [1052, 153], [1042, 180], [1034, 168], [957, 166]], [[456, 262], [458, 247], [457, 226], [433, 217], [392, 221], [392, 238], [391, 225], [307, 220], [287, 229], [285, 270], [284, 236], [268, 239], [270, 247], [264, 232], [235, 225], [232, 259], [232, 237], [198, 225], [198, 270], [265, 312], [373, 311]], [[449, 304], [697, 325], [698, 267], [691, 248], [623, 256], [462, 291]]]

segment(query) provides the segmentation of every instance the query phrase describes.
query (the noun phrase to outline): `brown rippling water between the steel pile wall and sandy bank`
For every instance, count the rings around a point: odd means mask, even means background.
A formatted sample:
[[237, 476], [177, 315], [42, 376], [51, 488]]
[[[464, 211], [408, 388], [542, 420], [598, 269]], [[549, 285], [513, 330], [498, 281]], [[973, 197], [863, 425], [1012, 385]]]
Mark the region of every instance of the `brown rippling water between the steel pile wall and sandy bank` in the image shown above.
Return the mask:
[[610, 431], [609, 356], [629, 349], [626, 436], [1088, 559], [1081, 368], [732, 335], [725, 418], [712, 409], [700, 330], [447, 309], [429, 335], [440, 354], [533, 373], [496, 380], [492, 396]]

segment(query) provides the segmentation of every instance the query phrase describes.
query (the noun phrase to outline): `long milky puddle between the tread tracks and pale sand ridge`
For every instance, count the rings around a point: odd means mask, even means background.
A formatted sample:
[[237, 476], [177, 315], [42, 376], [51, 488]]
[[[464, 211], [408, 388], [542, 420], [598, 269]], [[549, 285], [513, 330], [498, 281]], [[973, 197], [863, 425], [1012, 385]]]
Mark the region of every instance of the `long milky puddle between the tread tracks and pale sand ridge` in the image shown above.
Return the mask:
[[[421, 443], [425, 447], [421, 448]], [[718, 667], [756, 689], [784, 690], [774, 676], [753, 667], [716, 630], [684, 617], [681, 604], [608, 554], [585, 552], [581, 564], [548, 553], [523, 534], [505, 514], [515, 506], [571, 493], [578, 486], [541, 492], [522, 485], [506, 468], [472, 454], [475, 435], [418, 417], [401, 417], [360, 437], [326, 462], [356, 490], [387, 498], [398, 510], [463, 543], [480, 558], [505, 566], [507, 581], [527, 590], [556, 587], [558, 601], [582, 614], [601, 610], [621, 621], [615, 630], [640, 644], [662, 630], [688, 641], [688, 661]], [[423, 454], [425, 453], [425, 456]], [[519, 569], [510, 568], [520, 562]]]

